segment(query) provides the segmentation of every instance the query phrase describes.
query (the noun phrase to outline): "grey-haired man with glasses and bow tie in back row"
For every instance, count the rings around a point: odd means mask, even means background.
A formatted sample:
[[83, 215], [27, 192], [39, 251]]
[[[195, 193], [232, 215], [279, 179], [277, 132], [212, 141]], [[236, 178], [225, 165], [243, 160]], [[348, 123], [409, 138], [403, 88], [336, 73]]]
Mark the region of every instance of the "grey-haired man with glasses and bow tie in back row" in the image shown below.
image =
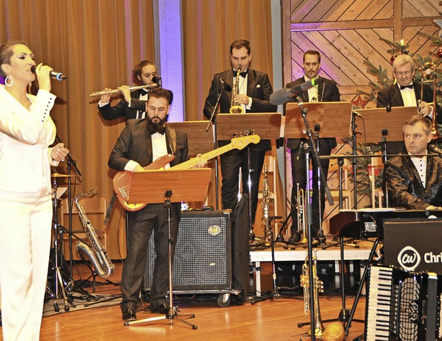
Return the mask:
[[[432, 119], [433, 107], [429, 105], [433, 101], [433, 90], [428, 84], [414, 81], [416, 73], [414, 60], [410, 55], [398, 55], [393, 61], [393, 75], [396, 84], [379, 90], [377, 107], [387, 108], [390, 111], [393, 106], [415, 106], [418, 114]], [[437, 108], [437, 121], [442, 123], [442, 110]], [[396, 155], [405, 151], [403, 142], [388, 142], [388, 154]]]

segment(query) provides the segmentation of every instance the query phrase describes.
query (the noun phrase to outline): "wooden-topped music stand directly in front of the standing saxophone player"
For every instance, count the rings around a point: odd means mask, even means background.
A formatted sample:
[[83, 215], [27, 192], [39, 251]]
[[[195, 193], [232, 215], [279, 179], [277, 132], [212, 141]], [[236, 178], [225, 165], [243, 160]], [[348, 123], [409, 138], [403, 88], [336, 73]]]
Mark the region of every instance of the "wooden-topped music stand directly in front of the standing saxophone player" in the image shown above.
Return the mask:
[[[245, 114], [218, 114], [216, 116], [218, 141], [230, 141], [236, 134], [251, 130], [263, 139], [279, 139], [281, 127], [280, 113], [245, 113]], [[254, 239], [251, 216], [251, 179], [250, 179], [250, 147], [247, 147], [249, 165], [249, 230], [251, 240]], [[255, 170], [256, 171], [256, 170]], [[244, 184], [243, 184], [244, 186]], [[257, 184], [258, 186], [258, 184]]]

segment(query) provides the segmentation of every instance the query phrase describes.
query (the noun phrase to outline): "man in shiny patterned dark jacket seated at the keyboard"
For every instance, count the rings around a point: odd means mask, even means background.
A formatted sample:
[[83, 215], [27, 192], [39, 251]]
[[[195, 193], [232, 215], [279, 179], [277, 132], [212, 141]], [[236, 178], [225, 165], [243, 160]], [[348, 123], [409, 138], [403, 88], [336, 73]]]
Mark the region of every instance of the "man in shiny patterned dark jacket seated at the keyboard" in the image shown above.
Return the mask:
[[384, 166], [384, 182], [392, 207], [442, 209], [442, 150], [432, 144], [427, 146], [432, 140], [431, 131], [432, 122], [425, 117], [414, 115], [405, 121], [403, 138], [407, 153], [388, 159]]

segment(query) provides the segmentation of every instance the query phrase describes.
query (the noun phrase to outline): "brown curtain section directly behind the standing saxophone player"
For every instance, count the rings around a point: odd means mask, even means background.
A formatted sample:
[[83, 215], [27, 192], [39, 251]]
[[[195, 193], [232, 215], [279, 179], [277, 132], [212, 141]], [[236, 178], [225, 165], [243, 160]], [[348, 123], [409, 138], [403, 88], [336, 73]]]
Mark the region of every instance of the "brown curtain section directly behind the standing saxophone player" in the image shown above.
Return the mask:
[[273, 77], [270, 0], [183, 0], [186, 121], [203, 119], [213, 75], [231, 67], [236, 39], [251, 43], [251, 68]]

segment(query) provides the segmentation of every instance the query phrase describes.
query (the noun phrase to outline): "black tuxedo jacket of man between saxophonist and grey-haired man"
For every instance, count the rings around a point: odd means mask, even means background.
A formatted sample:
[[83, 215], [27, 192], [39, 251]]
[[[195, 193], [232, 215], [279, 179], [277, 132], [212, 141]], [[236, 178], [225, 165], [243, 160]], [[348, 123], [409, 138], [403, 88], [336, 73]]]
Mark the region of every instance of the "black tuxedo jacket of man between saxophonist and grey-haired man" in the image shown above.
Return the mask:
[[[336, 81], [332, 81], [332, 79], [327, 79], [324, 77], [318, 77], [320, 80], [320, 84], [318, 85], [318, 101], [320, 102], [336, 102], [340, 101], [340, 93]], [[293, 88], [298, 84], [305, 83], [304, 77], [296, 79], [296, 81], [291, 81], [286, 88]], [[302, 101], [309, 101], [309, 92], [304, 91], [298, 95]], [[296, 102], [296, 97], [293, 97], [290, 101]], [[294, 149], [296, 148], [301, 139], [287, 139], [287, 148]], [[324, 150], [332, 150], [336, 147], [336, 139], [335, 138], [324, 138], [320, 139], [321, 148]], [[321, 153], [322, 154], [322, 153]], [[326, 153], [329, 154], [329, 153]]]

